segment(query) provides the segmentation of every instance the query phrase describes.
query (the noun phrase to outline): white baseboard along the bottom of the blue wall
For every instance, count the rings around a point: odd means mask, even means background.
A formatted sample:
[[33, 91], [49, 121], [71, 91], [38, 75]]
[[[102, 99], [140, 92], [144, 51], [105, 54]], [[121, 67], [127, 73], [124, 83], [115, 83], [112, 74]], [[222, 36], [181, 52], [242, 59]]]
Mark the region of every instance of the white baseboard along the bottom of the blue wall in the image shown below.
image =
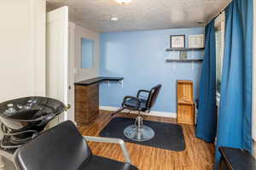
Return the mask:
[[[103, 105], [100, 106], [100, 110], [103, 110], [103, 111], [117, 111], [118, 109], [119, 109], [118, 107], [103, 106]], [[129, 112], [129, 111], [124, 110], [122, 112]], [[137, 111], [131, 111], [131, 113], [137, 113]], [[177, 113], [163, 112], [163, 111], [150, 111], [149, 113], [142, 112], [142, 115], [177, 118]]]

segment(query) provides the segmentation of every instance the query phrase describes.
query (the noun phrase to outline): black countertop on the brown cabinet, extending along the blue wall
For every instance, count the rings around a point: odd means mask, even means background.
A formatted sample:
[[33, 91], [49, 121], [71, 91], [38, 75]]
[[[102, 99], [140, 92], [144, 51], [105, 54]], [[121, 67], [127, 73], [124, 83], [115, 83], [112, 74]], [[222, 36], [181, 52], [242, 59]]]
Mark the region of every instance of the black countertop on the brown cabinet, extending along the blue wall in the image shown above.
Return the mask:
[[122, 81], [124, 77], [94, 77], [90, 78], [81, 82], [75, 82], [74, 85], [79, 85], [79, 86], [89, 86], [91, 84], [95, 84], [98, 82], [104, 82], [104, 81]]

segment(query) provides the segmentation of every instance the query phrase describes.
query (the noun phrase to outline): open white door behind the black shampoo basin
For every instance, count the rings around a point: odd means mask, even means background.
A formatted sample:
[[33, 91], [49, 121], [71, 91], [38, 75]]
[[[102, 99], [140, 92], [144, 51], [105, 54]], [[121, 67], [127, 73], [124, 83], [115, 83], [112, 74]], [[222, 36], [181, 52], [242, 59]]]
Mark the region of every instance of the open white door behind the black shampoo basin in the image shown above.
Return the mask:
[[[46, 96], [68, 105], [68, 8], [50, 11], [46, 20]], [[66, 120], [67, 112], [50, 126]]]

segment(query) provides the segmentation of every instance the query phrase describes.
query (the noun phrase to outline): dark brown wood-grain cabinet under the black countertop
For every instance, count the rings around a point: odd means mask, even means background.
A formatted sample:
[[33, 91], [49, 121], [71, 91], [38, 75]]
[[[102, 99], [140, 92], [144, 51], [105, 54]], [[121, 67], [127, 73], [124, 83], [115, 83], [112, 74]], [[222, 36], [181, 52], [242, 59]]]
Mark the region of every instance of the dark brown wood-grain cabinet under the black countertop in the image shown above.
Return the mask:
[[88, 124], [99, 115], [99, 84], [75, 85], [75, 122]]

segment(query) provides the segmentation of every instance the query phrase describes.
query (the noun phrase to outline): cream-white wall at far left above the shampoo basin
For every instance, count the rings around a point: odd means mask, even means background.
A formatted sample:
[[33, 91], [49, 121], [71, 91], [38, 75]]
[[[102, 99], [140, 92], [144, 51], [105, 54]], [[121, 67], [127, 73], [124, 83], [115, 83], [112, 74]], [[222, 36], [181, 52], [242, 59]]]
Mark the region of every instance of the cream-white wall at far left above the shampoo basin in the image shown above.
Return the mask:
[[44, 95], [45, 0], [2, 0], [0, 20], [0, 102]]

